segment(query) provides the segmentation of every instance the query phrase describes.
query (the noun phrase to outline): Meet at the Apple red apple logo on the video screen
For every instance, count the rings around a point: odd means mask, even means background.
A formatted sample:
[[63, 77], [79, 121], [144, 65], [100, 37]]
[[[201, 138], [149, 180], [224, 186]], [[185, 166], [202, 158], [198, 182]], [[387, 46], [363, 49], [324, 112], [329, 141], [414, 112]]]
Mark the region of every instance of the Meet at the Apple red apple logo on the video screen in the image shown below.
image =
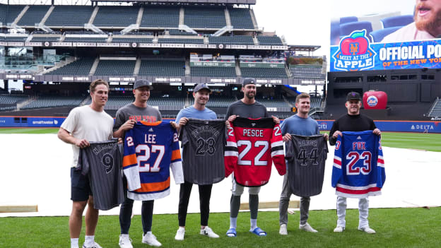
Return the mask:
[[366, 30], [355, 30], [341, 39], [339, 49], [332, 57], [337, 70], [361, 71], [374, 67], [375, 55], [377, 54], [370, 48]]

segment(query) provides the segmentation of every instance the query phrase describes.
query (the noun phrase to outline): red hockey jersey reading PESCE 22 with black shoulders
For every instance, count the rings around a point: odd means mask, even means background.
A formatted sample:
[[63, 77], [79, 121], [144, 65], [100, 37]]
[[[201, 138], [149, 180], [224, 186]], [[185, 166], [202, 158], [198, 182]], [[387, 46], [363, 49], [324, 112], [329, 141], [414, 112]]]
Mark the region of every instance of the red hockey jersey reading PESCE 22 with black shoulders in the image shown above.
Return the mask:
[[225, 177], [234, 171], [237, 184], [259, 187], [271, 176], [274, 163], [279, 175], [285, 175], [282, 132], [272, 118], [237, 117], [230, 122], [225, 147]]

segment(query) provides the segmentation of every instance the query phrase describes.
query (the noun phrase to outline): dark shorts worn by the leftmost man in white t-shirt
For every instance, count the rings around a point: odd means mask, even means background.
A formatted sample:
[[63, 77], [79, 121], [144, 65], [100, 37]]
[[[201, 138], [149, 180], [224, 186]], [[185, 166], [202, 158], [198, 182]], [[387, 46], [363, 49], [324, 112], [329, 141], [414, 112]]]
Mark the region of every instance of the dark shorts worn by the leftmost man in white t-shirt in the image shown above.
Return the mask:
[[71, 200], [87, 201], [92, 195], [89, 177], [81, 174], [81, 170], [71, 167]]

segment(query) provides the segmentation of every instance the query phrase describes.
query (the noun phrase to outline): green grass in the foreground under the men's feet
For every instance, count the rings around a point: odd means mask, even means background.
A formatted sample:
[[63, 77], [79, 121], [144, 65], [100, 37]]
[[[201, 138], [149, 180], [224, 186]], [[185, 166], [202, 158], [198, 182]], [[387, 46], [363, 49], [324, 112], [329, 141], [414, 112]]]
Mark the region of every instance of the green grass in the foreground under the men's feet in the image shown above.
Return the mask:
[[[346, 215], [346, 230], [334, 233], [336, 212], [310, 211], [308, 222], [319, 232], [298, 230], [299, 213], [289, 216], [288, 236], [278, 235], [278, 212], [260, 212], [258, 225], [268, 236], [257, 237], [249, 230], [249, 212], [240, 213], [237, 237], [226, 237], [228, 213], [212, 213], [209, 225], [220, 235], [211, 239], [199, 235], [199, 214], [187, 216], [184, 241], [176, 241], [177, 215], [154, 215], [153, 234], [163, 247], [440, 247], [441, 208], [372, 208], [370, 226], [377, 231], [369, 235], [357, 230], [358, 210]], [[69, 247], [68, 217], [0, 218], [0, 247]], [[131, 221], [130, 236], [134, 247], [141, 243], [141, 217]], [[95, 240], [106, 248], [119, 247], [119, 220], [116, 215], [100, 216]], [[84, 240], [84, 226], [80, 246]]]

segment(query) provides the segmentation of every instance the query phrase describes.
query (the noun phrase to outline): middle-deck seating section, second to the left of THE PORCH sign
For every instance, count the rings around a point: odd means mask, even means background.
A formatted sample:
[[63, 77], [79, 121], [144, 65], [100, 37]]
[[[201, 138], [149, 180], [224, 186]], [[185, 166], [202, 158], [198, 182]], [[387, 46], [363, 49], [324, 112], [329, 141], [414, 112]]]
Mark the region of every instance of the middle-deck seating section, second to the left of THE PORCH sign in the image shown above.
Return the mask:
[[100, 60], [94, 75], [131, 76], [135, 63], [134, 60]]

